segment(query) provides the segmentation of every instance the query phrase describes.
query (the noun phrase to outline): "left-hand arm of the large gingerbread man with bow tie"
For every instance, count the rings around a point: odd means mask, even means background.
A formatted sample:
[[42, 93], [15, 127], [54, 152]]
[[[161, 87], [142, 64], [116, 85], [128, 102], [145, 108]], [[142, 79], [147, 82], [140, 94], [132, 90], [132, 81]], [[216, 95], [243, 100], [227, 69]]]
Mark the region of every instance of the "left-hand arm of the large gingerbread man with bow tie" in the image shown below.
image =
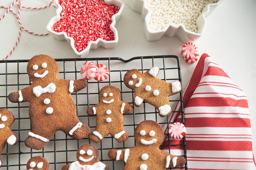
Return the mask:
[[28, 86], [22, 90], [17, 91], [17, 92], [11, 92], [8, 95], [8, 99], [12, 103], [25, 102], [25, 101], [29, 101], [31, 95], [33, 95], [33, 91], [31, 90], [31, 87]]

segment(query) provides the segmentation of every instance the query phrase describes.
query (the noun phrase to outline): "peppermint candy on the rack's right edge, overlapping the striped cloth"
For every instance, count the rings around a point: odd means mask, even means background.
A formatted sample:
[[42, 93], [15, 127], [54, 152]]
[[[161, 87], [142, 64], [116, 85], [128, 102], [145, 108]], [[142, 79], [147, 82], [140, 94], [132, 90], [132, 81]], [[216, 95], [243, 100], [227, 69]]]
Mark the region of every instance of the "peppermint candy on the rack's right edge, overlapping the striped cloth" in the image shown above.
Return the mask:
[[169, 135], [172, 139], [182, 139], [186, 132], [186, 127], [180, 122], [175, 122], [169, 127]]

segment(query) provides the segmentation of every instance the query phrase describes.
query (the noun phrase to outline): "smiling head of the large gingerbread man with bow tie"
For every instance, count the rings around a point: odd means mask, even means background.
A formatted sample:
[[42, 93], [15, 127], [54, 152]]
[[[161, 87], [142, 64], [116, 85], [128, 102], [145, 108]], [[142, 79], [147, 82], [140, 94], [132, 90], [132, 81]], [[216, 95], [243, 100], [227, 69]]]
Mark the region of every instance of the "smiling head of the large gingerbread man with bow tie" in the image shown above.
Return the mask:
[[57, 62], [47, 55], [32, 57], [27, 65], [28, 76], [31, 81], [42, 79], [56, 79], [60, 72]]

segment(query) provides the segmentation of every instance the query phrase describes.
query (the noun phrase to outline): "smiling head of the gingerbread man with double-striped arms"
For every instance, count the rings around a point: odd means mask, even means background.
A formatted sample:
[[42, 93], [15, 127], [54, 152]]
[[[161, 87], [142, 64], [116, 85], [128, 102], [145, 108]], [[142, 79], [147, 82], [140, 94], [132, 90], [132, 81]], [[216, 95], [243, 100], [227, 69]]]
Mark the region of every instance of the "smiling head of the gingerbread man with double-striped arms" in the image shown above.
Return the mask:
[[158, 148], [164, 140], [164, 131], [155, 121], [143, 121], [135, 128], [134, 138], [139, 146]]

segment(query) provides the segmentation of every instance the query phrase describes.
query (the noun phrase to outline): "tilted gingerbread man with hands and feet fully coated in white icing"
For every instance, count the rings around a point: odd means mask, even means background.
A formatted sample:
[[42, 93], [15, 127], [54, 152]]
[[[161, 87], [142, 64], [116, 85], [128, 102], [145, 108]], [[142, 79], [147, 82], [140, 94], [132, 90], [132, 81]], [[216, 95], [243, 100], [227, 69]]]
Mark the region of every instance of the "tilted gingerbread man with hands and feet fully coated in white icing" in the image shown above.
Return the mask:
[[158, 67], [152, 67], [145, 73], [132, 69], [124, 75], [125, 86], [134, 90], [134, 105], [141, 106], [143, 101], [158, 109], [159, 116], [164, 117], [172, 112], [168, 97], [181, 92], [179, 81], [172, 83], [157, 78]]

